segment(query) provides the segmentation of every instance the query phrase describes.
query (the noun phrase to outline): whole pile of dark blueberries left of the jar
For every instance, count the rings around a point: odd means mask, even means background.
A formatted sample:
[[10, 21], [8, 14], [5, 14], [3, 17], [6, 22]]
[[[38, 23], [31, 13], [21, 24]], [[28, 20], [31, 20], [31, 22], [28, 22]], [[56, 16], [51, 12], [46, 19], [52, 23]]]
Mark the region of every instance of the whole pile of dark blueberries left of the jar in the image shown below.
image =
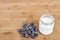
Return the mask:
[[31, 36], [32, 39], [38, 36], [38, 28], [34, 26], [34, 23], [31, 22], [29, 25], [27, 25], [26, 22], [23, 24], [22, 29], [18, 29], [18, 32], [21, 34], [22, 37], [28, 38]]

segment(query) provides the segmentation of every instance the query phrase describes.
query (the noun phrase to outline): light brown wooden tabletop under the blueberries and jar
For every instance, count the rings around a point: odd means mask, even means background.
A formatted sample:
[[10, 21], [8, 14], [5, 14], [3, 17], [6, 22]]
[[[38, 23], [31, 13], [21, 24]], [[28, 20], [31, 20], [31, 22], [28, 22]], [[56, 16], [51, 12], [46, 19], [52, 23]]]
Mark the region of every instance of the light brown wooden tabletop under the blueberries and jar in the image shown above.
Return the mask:
[[55, 18], [54, 32], [49, 36], [39, 33], [34, 40], [60, 40], [60, 0], [0, 0], [0, 40], [32, 40], [17, 32], [24, 21], [34, 21], [38, 27], [42, 14]]

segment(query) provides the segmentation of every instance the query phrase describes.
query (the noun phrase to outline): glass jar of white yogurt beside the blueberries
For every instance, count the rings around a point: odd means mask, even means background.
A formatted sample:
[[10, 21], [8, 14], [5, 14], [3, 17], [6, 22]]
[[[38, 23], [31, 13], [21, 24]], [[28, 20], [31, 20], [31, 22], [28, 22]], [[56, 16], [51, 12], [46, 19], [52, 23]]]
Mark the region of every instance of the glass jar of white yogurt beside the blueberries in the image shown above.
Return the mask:
[[54, 18], [50, 14], [42, 15], [39, 20], [39, 31], [44, 35], [49, 35], [54, 29]]

